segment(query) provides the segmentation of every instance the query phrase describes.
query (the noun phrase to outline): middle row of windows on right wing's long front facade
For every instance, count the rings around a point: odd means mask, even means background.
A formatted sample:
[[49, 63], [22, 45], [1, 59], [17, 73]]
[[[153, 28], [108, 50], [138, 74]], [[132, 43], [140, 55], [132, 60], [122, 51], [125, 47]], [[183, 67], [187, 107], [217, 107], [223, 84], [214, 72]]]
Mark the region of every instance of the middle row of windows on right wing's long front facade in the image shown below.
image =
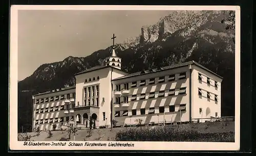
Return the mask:
[[[165, 94], [165, 93], [167, 93], [167, 94]], [[147, 98], [146, 98], [146, 93], [141, 93], [141, 94], [139, 94], [139, 96], [137, 94], [134, 94], [131, 97], [131, 101], [141, 100], [141, 99], [158, 98], [158, 97], [165, 97], [165, 96], [175, 96], [175, 95], [182, 95], [182, 94], [186, 94], [186, 87], [181, 87], [179, 89], [178, 94], [175, 94], [175, 89], [162, 90], [162, 91], [159, 91], [158, 94], [156, 92], [150, 92], [149, 95], [147, 96]], [[122, 102], [129, 101], [128, 96], [123, 96], [122, 98], [123, 98]], [[120, 102], [121, 102], [121, 97], [116, 97], [115, 103], [119, 104]]]

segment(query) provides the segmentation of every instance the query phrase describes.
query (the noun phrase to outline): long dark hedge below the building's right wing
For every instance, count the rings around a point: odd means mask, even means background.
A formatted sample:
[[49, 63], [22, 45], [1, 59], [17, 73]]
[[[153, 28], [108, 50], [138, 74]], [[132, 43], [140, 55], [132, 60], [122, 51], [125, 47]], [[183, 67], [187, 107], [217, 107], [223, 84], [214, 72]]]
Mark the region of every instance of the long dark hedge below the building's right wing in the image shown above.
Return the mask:
[[116, 141], [234, 142], [234, 133], [199, 133], [194, 129], [168, 132], [161, 127], [137, 127], [119, 131], [116, 134]]

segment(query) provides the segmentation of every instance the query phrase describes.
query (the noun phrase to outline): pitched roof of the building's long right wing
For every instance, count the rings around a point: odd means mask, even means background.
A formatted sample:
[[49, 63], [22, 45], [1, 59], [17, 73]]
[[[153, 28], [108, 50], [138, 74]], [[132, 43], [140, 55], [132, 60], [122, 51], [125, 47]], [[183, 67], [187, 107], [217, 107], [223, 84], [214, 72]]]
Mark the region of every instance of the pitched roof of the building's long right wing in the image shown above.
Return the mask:
[[[180, 63], [180, 64], [174, 64], [174, 65], [170, 65], [170, 66], [165, 66], [165, 67], [158, 67], [158, 68], [155, 68], [155, 69], [150, 69], [150, 70], [143, 70], [143, 71], [139, 71], [139, 72], [135, 72], [135, 73], [131, 73], [131, 74], [127, 74], [127, 75], [124, 75], [122, 77], [118, 77], [114, 80], [120, 80], [120, 79], [125, 79], [127, 77], [133, 77], [133, 76], [138, 76], [138, 75], [142, 75], [142, 74], [147, 74], [147, 73], [153, 73], [153, 72], [158, 72], [158, 71], [162, 71], [162, 70], [167, 70], [167, 69], [174, 69], [174, 68], [178, 68], [178, 67], [184, 67], [184, 66], [187, 66], [187, 65], [197, 65], [205, 70], [207, 70], [208, 72], [220, 77], [221, 79], [223, 79], [223, 77], [221, 77], [220, 75], [216, 74], [215, 72], [207, 69], [206, 67], [202, 66], [201, 64], [195, 62], [195, 61], [189, 61], [189, 62], [184, 62], [184, 63]], [[113, 80], [113, 81], [114, 81]]]

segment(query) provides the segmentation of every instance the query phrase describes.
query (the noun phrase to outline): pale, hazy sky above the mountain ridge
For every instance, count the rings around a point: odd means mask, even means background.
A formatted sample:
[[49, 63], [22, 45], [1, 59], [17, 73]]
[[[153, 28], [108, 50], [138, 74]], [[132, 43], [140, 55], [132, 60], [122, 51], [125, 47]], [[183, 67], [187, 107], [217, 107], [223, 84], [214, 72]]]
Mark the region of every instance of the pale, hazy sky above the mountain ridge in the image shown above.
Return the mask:
[[129, 37], [137, 37], [143, 25], [151, 25], [168, 10], [19, 10], [18, 80], [40, 65], [69, 56], [86, 57]]

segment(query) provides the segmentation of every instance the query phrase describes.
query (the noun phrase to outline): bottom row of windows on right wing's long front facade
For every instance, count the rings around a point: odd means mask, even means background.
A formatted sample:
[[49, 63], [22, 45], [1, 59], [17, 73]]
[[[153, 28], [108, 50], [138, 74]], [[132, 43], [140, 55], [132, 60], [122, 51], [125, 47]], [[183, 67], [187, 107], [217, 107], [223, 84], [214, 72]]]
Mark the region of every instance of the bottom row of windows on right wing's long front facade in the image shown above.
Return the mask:
[[[186, 104], [169, 106], [169, 111], [168, 112], [179, 112], [179, 111], [186, 111]], [[159, 107], [159, 113], [165, 113], [164, 106]], [[132, 116], [133, 115], [144, 115], [144, 114], [145, 114], [145, 109], [144, 108], [140, 109], [140, 114], [137, 114], [136, 109], [132, 110]], [[155, 108], [150, 108], [148, 110], [147, 114], [155, 114]], [[115, 117], [119, 117], [119, 116], [128, 116], [128, 110], [122, 111], [122, 114], [120, 114], [120, 111], [116, 111], [115, 112]]]

